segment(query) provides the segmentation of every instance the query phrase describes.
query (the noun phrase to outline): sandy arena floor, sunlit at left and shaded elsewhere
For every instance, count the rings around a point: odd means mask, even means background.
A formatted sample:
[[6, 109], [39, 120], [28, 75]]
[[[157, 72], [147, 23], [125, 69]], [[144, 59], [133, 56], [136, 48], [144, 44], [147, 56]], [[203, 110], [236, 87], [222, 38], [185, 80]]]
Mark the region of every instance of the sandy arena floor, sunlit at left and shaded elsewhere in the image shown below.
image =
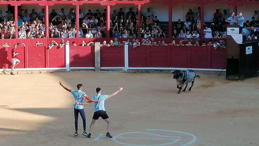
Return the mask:
[[[226, 81], [200, 74], [191, 92], [177, 94], [171, 74], [70, 72], [0, 76], [0, 146], [258, 146], [259, 78]], [[74, 134], [70, 89], [83, 83], [95, 95], [124, 87], [106, 100], [113, 138], [104, 138], [106, 122], [97, 120], [92, 138]], [[190, 86], [190, 85], [189, 85]], [[84, 106], [87, 133], [94, 104]], [[104, 134], [104, 135], [102, 135]]]

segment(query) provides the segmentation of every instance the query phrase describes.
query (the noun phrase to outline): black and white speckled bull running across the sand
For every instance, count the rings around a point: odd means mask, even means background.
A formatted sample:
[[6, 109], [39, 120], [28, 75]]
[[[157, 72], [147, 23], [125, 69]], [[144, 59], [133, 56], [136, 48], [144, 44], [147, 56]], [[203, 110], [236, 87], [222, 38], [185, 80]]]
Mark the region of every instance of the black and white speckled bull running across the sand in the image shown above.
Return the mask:
[[[192, 86], [195, 80], [195, 77], [200, 78], [199, 75], [196, 75], [193, 70], [187, 69], [187, 70], [175, 70], [172, 71], [173, 78], [176, 80], [177, 88], [179, 89], [178, 94], [181, 93], [182, 87], [186, 84], [185, 88], [182, 91], [185, 91], [188, 83], [192, 82]], [[188, 91], [191, 91], [192, 86], [189, 88]]]

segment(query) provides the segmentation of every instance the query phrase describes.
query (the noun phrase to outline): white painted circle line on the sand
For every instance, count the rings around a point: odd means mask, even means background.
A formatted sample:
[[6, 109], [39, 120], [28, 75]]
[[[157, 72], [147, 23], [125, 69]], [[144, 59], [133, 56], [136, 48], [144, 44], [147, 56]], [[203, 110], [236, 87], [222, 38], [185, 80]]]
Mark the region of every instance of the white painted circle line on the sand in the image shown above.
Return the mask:
[[[169, 131], [169, 132], [179, 132], [179, 133], [183, 133], [183, 134], [187, 134], [193, 137], [193, 140], [191, 140], [190, 142], [184, 144], [184, 145], [180, 145], [180, 146], [187, 146], [192, 144], [193, 142], [195, 142], [195, 140], [197, 139], [196, 136], [194, 136], [193, 134], [187, 133], [187, 132], [181, 132], [181, 131], [172, 131], [172, 130], [162, 130], [162, 129], [146, 129], [146, 130], [157, 130], [157, 131]], [[127, 143], [123, 143], [123, 142], [119, 142], [116, 140], [116, 138], [135, 138], [135, 139], [159, 139], [159, 140], [170, 140], [169, 138], [140, 138], [140, 137], [121, 137], [120, 135], [123, 134], [130, 134], [130, 133], [143, 133], [143, 134], [151, 134], [151, 135], [155, 135], [155, 136], [160, 136], [160, 137], [170, 137], [171, 140], [174, 140], [173, 142], [169, 142], [169, 143], [165, 143], [165, 144], [159, 144], [159, 145], [135, 145], [135, 144], [127, 144]], [[173, 143], [178, 142], [181, 139], [178, 139], [181, 137], [175, 137], [175, 136], [165, 136], [165, 135], [158, 135], [158, 134], [153, 134], [153, 133], [147, 133], [147, 132], [126, 132], [126, 133], [121, 133], [118, 134], [116, 136], [113, 137], [113, 140], [119, 144], [123, 144], [123, 145], [130, 145], [130, 146], [163, 146], [163, 145], [170, 145]]]

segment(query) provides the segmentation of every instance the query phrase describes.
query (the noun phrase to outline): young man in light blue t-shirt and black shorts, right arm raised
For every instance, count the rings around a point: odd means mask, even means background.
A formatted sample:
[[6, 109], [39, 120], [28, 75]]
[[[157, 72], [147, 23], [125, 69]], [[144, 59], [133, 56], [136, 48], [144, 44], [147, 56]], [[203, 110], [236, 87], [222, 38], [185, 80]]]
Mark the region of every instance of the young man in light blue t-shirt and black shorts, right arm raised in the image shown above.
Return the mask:
[[[93, 96], [92, 99], [100, 101], [100, 103], [95, 102], [95, 104], [94, 104], [94, 115], [93, 115], [93, 119], [92, 119], [92, 122], [91, 122], [91, 125], [90, 125], [90, 128], [89, 128], [88, 138], [91, 137], [91, 131], [93, 129], [94, 123], [95, 123], [96, 120], [99, 119], [99, 117], [101, 117], [102, 119], [104, 119], [105, 122], [107, 122], [106, 137], [112, 138], [112, 135], [110, 135], [110, 133], [109, 133], [111, 122], [110, 122], [109, 116], [106, 114], [106, 111], [105, 111], [105, 108], [104, 108], [104, 101], [107, 98], [111, 98], [112, 96], [116, 95], [117, 93], [119, 93], [122, 90], [123, 90], [123, 88], [120, 87], [119, 90], [117, 90], [116, 92], [114, 92], [112, 94], [101, 95], [101, 92], [102, 92], [101, 88], [99, 88], [99, 87], [96, 88], [97, 95]], [[93, 101], [87, 101], [87, 102], [83, 102], [83, 103], [77, 102], [76, 104], [84, 105], [84, 104], [89, 104], [91, 102], [93, 102]]]

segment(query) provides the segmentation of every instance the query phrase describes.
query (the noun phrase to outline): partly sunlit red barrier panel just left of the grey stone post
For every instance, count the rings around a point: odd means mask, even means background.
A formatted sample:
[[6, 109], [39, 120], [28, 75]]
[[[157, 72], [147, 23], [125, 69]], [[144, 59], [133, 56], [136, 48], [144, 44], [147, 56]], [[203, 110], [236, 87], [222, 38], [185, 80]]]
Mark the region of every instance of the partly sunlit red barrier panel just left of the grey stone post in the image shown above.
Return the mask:
[[94, 47], [70, 46], [70, 67], [94, 67]]

